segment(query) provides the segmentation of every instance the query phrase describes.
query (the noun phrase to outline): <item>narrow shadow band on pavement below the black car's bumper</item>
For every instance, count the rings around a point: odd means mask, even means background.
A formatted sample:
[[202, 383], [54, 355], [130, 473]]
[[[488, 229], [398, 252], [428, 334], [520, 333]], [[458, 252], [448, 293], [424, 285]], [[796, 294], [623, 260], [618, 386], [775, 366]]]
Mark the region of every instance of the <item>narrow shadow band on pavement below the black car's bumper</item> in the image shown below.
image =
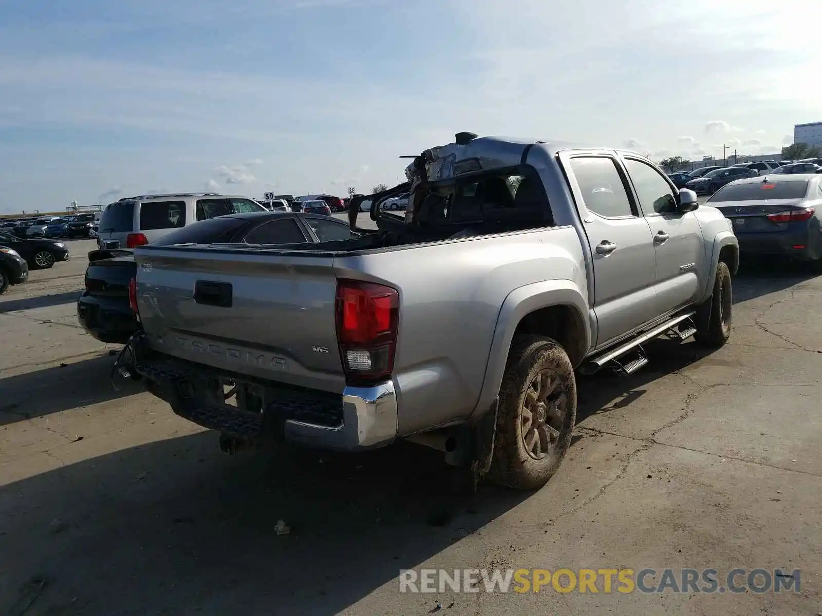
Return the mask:
[[106, 402], [143, 391], [128, 383], [115, 391], [109, 353], [0, 379], [0, 426]]

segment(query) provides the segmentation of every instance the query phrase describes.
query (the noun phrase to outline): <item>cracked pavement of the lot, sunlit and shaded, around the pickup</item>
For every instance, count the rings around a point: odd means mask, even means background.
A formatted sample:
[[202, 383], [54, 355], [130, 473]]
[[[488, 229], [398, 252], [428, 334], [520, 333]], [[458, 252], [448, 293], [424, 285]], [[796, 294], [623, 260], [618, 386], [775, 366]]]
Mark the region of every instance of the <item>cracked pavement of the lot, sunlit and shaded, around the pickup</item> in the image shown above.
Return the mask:
[[[659, 340], [635, 375], [580, 378], [549, 484], [464, 499], [425, 448], [229, 457], [139, 388], [114, 392], [111, 349], [75, 319], [90, 247], [0, 298], [0, 614], [822, 613], [806, 269], [746, 263], [726, 347]], [[407, 568], [782, 568], [801, 591], [400, 594]]]

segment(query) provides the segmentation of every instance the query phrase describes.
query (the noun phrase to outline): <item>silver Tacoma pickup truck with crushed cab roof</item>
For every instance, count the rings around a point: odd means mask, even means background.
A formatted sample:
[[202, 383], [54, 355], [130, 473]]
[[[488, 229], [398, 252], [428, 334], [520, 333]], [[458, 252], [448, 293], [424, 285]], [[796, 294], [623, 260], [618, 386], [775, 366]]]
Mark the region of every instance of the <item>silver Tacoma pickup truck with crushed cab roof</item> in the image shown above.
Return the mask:
[[138, 247], [119, 373], [229, 451], [408, 439], [533, 489], [570, 446], [575, 373], [730, 335], [737, 238], [643, 156], [459, 133], [406, 173], [362, 197], [379, 231], [357, 203], [334, 241]]

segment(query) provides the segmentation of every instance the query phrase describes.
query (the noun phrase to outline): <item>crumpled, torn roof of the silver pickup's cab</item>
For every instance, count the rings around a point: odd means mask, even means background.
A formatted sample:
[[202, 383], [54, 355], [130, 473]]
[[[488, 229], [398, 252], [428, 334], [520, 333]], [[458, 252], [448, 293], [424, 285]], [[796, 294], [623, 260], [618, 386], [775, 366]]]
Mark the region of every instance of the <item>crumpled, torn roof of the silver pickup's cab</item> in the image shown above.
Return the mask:
[[[456, 176], [481, 169], [513, 167], [521, 164], [523, 153], [529, 145], [540, 144], [552, 154], [561, 149], [585, 148], [584, 145], [561, 141], [541, 141], [521, 137], [487, 136], [473, 133], [457, 133], [455, 142], [425, 150], [428, 182], [442, 182]], [[405, 168], [405, 177], [413, 182], [418, 173], [418, 160]]]

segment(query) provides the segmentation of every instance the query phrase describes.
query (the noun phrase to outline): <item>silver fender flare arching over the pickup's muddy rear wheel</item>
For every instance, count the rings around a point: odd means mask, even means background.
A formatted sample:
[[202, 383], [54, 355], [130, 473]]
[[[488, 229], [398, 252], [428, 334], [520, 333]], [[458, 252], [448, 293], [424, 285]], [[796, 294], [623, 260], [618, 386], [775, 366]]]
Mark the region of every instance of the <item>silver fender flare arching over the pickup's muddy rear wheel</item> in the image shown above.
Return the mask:
[[514, 338], [517, 325], [525, 315], [551, 306], [570, 307], [579, 313], [585, 333], [584, 351], [589, 350], [591, 330], [586, 297], [587, 293], [582, 292], [573, 280], [568, 279], [527, 284], [524, 287], [515, 288], [508, 294], [496, 317], [496, 327], [485, 366], [483, 387], [477, 406], [474, 407], [471, 415], [472, 421], [480, 419], [492, 407], [502, 384], [502, 376], [505, 374], [511, 340]]

